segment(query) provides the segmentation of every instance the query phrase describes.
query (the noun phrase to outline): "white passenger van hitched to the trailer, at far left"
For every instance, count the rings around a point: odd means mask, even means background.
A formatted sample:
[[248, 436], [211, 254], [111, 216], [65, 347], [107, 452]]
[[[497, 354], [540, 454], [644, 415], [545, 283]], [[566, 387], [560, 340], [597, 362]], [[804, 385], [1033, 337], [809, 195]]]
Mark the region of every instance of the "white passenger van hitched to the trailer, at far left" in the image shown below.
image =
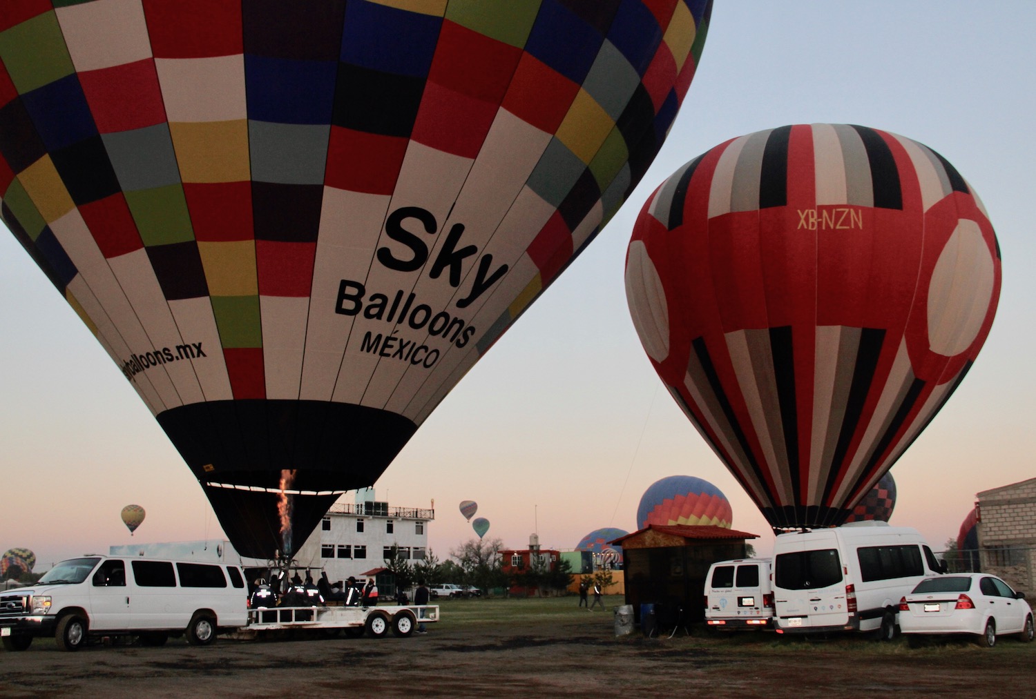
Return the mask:
[[34, 585], [0, 594], [7, 650], [51, 637], [77, 650], [90, 635], [133, 634], [146, 645], [186, 634], [206, 645], [248, 622], [248, 591], [236, 565], [86, 555], [63, 560]]

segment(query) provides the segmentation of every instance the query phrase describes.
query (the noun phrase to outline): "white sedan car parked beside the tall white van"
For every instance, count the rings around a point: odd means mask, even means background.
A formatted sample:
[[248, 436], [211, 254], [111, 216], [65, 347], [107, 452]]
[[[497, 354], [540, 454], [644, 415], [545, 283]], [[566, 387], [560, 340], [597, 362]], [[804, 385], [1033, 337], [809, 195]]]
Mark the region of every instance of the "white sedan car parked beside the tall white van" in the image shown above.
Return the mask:
[[997, 576], [941, 575], [925, 578], [899, 601], [899, 629], [912, 642], [919, 639], [915, 634], [974, 634], [991, 648], [1001, 634], [1032, 641], [1033, 611], [1025, 594]]

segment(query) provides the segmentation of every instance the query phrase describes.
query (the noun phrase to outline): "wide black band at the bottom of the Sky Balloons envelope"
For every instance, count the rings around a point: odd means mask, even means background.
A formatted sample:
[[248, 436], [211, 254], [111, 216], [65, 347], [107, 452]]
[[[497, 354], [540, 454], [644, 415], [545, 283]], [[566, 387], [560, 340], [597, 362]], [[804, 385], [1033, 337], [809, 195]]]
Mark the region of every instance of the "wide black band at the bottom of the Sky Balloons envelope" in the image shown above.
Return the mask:
[[386, 410], [323, 401], [210, 401], [157, 416], [202, 483], [291, 490], [371, 486], [416, 431]]

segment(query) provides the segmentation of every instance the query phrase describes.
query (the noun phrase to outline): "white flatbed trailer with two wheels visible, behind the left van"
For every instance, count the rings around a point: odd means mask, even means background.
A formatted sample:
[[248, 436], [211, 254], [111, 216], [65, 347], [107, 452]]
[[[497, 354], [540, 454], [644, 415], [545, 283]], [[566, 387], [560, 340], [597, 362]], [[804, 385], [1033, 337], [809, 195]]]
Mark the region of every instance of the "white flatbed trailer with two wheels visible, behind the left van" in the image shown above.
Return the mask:
[[230, 638], [250, 639], [286, 631], [319, 631], [335, 635], [344, 631], [350, 636], [382, 638], [390, 631], [405, 638], [419, 623], [439, 620], [438, 605], [385, 605], [383, 607], [260, 607], [249, 610], [248, 624], [228, 634]]

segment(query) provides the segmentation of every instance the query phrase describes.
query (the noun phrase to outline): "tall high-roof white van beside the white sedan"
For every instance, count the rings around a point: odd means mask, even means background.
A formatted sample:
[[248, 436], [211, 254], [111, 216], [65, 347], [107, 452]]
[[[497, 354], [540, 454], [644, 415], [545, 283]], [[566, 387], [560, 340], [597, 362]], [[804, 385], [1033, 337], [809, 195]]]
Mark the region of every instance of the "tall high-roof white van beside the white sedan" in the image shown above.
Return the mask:
[[779, 534], [774, 542], [776, 630], [896, 635], [899, 600], [945, 566], [916, 529], [868, 520]]

